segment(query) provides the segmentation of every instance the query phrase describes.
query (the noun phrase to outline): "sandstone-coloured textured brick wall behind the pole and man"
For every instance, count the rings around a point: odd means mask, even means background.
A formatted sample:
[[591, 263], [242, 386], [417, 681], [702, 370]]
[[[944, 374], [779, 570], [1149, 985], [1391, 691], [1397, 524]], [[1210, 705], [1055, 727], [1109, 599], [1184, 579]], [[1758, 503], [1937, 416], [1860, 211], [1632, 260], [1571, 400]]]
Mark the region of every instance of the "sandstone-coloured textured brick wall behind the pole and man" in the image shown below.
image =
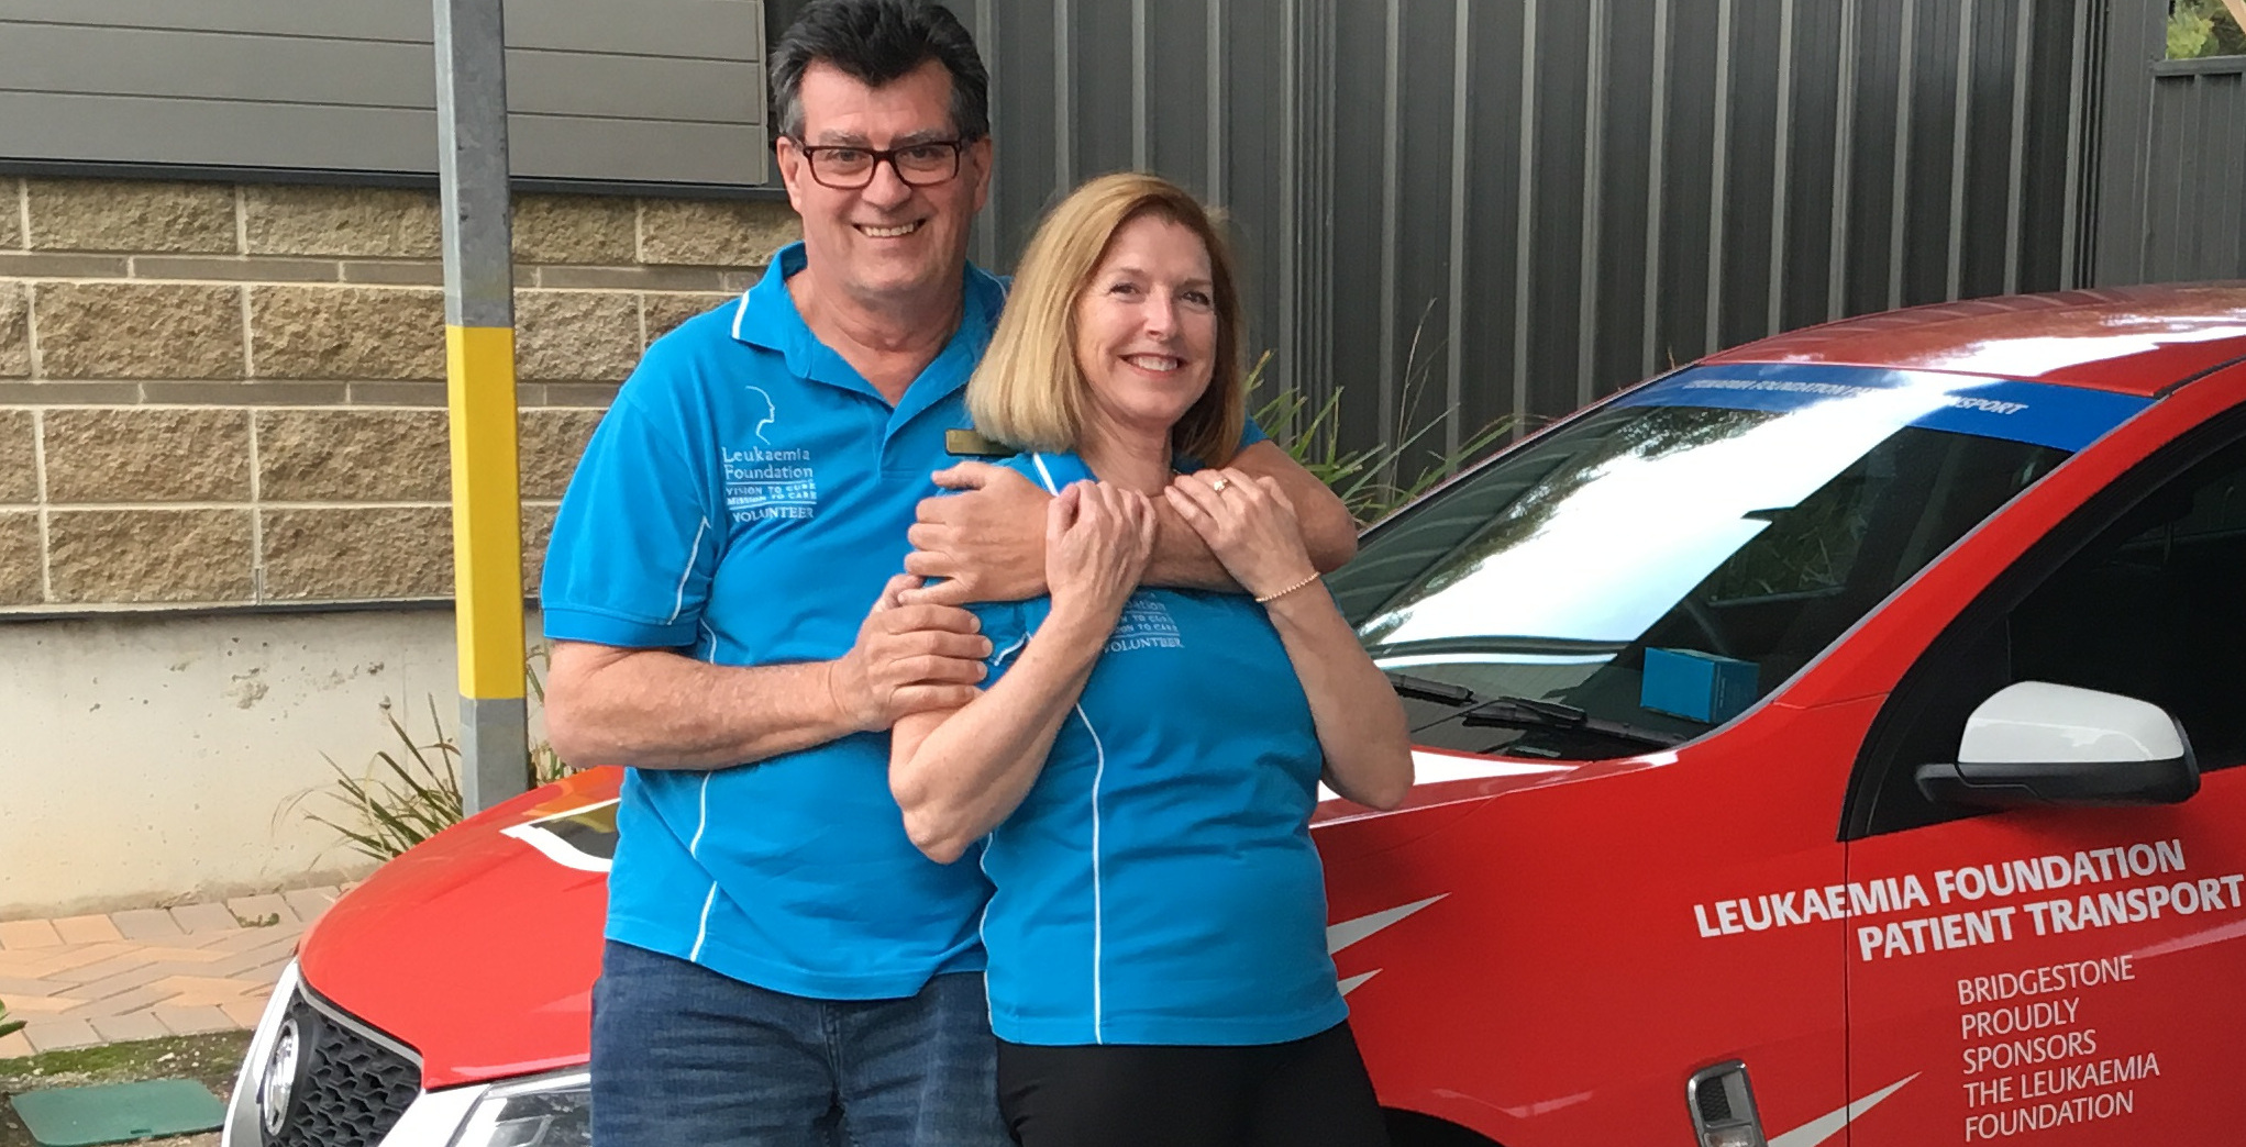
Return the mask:
[[[526, 590], [649, 339], [775, 202], [519, 195]], [[436, 193], [0, 180], [0, 611], [451, 593]]]

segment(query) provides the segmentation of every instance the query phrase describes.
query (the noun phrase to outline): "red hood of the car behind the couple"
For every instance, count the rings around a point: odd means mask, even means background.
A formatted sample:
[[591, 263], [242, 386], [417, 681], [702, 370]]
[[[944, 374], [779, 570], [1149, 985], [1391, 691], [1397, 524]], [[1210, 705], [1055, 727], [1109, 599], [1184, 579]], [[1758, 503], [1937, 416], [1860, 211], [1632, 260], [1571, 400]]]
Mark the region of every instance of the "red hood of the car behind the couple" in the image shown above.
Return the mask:
[[[1444, 752], [1413, 759], [1422, 783], [1397, 813], [1321, 801], [1314, 837], [1339, 866], [1336, 887], [1361, 882], [1345, 871], [1357, 857], [1503, 792], [1581, 772]], [[584, 1064], [620, 781], [618, 768], [579, 772], [391, 860], [305, 934], [305, 983], [420, 1053], [429, 1089]]]

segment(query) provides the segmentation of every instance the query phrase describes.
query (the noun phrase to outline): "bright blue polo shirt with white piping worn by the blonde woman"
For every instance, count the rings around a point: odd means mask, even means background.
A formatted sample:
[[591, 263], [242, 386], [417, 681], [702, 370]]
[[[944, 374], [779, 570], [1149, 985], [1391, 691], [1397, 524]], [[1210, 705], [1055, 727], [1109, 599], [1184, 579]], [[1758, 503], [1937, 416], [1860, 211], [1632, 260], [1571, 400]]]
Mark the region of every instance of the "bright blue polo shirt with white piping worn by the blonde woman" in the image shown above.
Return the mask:
[[[1049, 492], [1065, 453], [1006, 462]], [[973, 606], [997, 680], [1051, 597]], [[1143, 588], [984, 848], [990, 1028], [1015, 1044], [1278, 1044], [1348, 1017], [1309, 842], [1323, 754], [1262, 606]]]

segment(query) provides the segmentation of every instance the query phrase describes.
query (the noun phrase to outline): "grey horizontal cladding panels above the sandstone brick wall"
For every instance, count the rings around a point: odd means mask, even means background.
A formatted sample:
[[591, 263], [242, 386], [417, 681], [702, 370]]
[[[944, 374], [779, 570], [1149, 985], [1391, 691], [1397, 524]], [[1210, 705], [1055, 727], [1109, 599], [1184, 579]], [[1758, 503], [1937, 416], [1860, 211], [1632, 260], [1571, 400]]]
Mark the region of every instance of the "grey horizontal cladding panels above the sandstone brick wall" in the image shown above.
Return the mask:
[[[759, 0], [505, 0], [512, 171], [766, 180]], [[0, 171], [431, 180], [429, 0], [0, 0]]]

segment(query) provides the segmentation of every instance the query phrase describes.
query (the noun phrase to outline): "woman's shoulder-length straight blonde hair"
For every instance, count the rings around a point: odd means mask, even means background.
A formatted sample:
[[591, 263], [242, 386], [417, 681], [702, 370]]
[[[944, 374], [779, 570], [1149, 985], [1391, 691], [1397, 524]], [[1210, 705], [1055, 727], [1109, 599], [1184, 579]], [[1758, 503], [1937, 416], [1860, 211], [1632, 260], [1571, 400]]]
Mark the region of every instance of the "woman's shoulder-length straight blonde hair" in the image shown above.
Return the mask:
[[1170, 426], [1170, 449], [1220, 467], [1240, 449], [1247, 395], [1240, 370], [1240, 281], [1215, 211], [1186, 189], [1141, 173], [1101, 175], [1053, 204], [1022, 251], [1006, 312], [968, 379], [968, 415], [988, 438], [1071, 451], [1085, 431], [1089, 384], [1076, 366], [1076, 301], [1116, 231], [1139, 215], [1186, 227], [1208, 249], [1217, 348], [1208, 391]]

